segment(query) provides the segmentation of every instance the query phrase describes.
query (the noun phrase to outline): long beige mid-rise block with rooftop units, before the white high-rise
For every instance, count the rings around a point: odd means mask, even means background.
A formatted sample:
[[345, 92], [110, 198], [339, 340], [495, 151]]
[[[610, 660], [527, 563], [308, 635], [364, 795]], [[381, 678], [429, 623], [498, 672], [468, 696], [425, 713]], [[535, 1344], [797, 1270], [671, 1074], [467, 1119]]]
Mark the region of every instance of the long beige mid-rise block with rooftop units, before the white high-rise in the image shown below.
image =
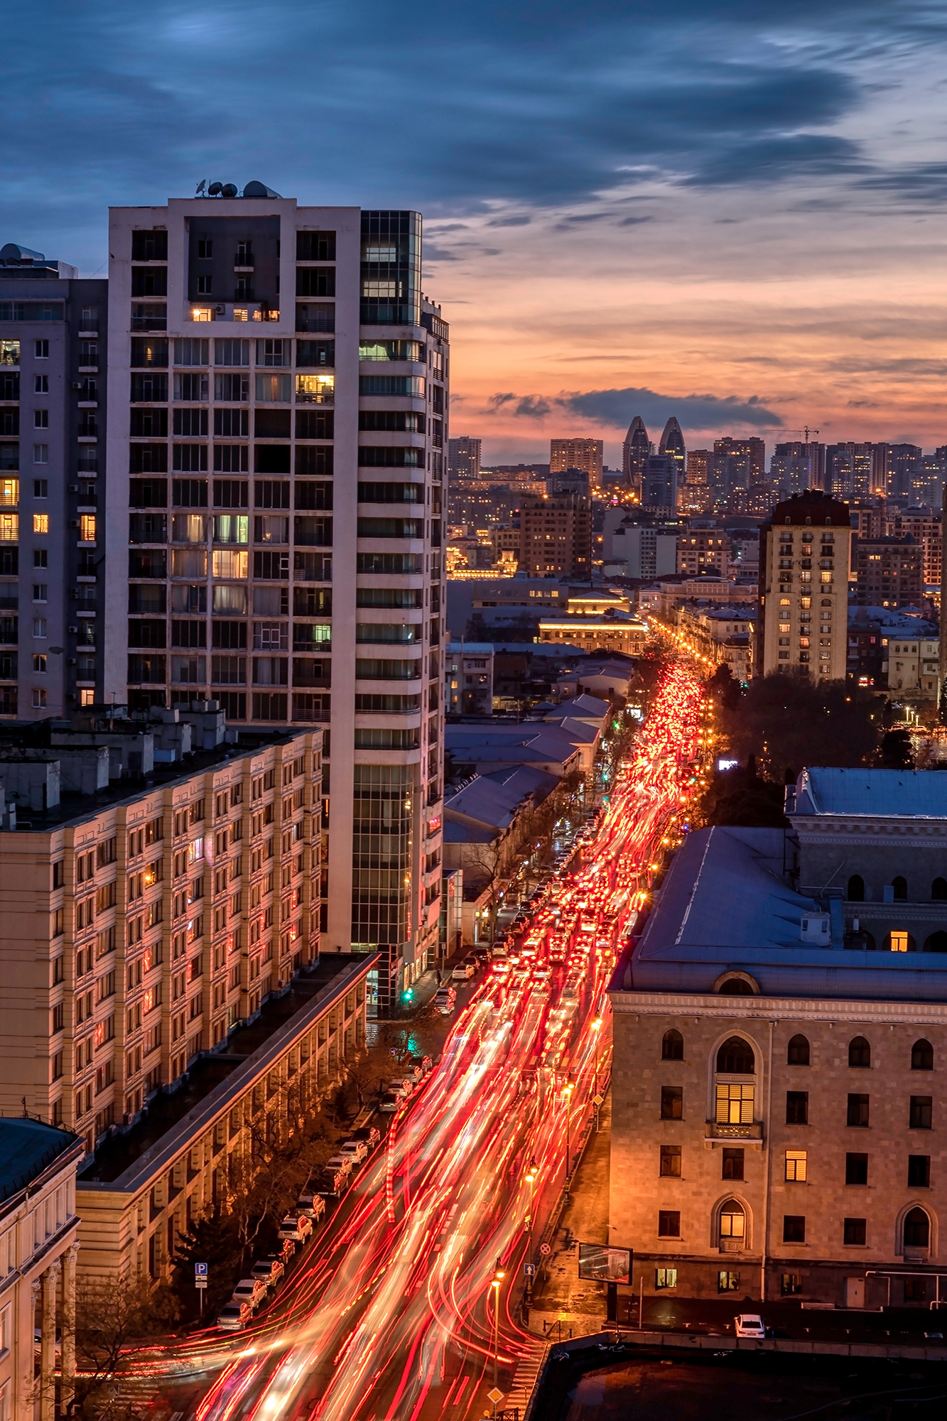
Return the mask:
[[[182, 764], [162, 732], [192, 725], [152, 713], [158, 735], [0, 745], [0, 1110], [90, 1152], [319, 956], [321, 730], [237, 750], [202, 709], [212, 745]], [[119, 752], [142, 787], [109, 783]]]

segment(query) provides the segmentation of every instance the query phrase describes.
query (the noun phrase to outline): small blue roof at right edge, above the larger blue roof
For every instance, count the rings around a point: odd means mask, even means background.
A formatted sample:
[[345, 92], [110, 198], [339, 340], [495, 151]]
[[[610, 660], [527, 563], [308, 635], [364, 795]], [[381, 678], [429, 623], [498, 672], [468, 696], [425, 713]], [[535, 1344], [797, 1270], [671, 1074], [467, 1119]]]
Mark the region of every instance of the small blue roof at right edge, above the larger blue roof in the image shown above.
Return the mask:
[[791, 813], [947, 818], [947, 774], [940, 770], [805, 769], [796, 780]]

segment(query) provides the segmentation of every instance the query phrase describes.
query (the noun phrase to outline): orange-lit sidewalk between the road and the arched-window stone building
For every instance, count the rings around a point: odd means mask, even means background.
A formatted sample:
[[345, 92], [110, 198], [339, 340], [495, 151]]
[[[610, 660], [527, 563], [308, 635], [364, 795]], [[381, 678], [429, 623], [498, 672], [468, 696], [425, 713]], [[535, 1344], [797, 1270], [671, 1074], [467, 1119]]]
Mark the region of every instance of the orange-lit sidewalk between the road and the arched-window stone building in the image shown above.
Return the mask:
[[552, 1239], [547, 1266], [536, 1279], [529, 1310], [529, 1330], [543, 1336], [582, 1337], [604, 1326], [604, 1283], [579, 1277], [579, 1243], [604, 1243], [609, 1238], [609, 1147], [611, 1091], [600, 1111], [599, 1134], [589, 1137], [576, 1169], [559, 1228]]

